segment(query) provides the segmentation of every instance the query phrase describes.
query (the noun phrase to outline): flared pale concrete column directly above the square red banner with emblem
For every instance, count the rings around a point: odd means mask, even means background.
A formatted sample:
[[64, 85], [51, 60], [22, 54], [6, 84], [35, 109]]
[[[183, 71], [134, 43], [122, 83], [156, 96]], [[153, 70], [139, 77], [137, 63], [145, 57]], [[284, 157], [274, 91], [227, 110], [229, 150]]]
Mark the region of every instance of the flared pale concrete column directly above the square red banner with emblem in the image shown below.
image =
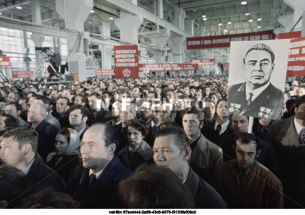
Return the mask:
[[120, 29], [120, 39], [138, 44], [138, 28], [143, 22], [142, 15], [132, 15], [120, 11], [120, 18], [114, 20], [114, 24]]

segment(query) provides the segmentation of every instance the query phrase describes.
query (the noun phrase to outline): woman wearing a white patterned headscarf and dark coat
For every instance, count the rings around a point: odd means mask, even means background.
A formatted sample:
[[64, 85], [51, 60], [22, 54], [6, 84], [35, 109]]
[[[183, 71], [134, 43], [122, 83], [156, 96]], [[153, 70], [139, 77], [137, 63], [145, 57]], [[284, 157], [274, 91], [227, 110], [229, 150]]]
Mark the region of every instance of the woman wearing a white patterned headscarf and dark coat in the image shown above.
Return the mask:
[[48, 155], [46, 164], [55, 170], [65, 182], [74, 167], [79, 165], [79, 135], [74, 129], [60, 129], [55, 137], [55, 152]]

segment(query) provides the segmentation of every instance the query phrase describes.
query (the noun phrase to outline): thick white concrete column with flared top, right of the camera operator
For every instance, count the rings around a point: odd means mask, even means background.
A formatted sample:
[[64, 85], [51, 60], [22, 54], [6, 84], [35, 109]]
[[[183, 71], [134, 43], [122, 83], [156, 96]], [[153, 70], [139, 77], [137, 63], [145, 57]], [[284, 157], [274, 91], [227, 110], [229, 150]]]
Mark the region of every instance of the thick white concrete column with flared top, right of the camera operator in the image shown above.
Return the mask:
[[68, 66], [70, 74], [78, 74], [79, 81], [87, 77], [83, 42], [89, 35], [84, 33], [84, 22], [92, 9], [93, 0], [56, 0], [56, 12], [65, 20], [66, 28], [75, 30], [67, 31]]

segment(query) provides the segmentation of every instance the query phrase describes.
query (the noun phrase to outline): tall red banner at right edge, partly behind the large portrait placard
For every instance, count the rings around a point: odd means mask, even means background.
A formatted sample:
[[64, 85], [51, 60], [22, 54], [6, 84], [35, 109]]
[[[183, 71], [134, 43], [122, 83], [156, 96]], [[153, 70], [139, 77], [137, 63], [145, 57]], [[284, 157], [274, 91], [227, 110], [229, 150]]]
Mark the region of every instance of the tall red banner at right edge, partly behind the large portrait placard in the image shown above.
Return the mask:
[[301, 37], [290, 41], [286, 77], [304, 76], [304, 75], [305, 75], [305, 37]]

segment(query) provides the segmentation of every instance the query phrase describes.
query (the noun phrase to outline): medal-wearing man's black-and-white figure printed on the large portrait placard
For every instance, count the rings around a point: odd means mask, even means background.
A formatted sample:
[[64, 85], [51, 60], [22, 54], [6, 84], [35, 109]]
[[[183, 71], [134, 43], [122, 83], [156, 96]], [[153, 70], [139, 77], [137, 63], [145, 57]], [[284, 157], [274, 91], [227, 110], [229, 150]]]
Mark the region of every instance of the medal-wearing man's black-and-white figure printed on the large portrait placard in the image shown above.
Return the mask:
[[284, 92], [270, 83], [274, 70], [274, 52], [266, 44], [247, 48], [243, 56], [244, 83], [229, 86], [228, 112], [280, 120]]

